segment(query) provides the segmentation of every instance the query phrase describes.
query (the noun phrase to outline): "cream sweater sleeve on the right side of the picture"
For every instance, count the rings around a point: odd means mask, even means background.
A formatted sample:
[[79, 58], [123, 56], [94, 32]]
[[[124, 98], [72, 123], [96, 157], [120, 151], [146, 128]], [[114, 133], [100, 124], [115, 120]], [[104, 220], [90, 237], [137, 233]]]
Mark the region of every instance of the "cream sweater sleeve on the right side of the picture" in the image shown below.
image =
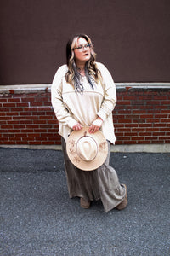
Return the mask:
[[104, 99], [99, 109], [98, 115], [103, 121], [112, 113], [116, 106], [116, 85], [111, 77], [111, 73], [101, 63], [98, 63], [99, 70], [103, 78]]

